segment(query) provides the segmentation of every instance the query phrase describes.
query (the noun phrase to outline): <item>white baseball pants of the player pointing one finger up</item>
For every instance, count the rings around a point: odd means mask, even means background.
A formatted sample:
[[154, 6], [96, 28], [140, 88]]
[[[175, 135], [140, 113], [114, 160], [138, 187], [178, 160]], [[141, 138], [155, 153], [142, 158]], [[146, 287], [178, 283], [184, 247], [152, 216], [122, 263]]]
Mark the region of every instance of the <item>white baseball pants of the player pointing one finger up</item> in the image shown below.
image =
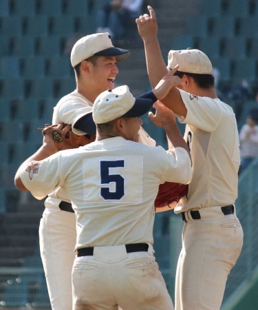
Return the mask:
[[175, 310], [219, 310], [228, 273], [243, 245], [243, 230], [235, 214], [221, 207], [198, 209], [200, 220], [186, 211], [182, 251], [175, 277]]

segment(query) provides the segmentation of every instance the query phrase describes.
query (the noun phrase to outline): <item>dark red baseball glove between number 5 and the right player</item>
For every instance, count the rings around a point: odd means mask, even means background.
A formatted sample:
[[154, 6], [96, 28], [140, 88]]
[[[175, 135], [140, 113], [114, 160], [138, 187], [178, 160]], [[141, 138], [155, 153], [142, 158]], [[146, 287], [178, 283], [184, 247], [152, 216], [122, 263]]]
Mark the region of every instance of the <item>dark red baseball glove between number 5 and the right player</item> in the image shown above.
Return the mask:
[[188, 185], [181, 183], [165, 182], [160, 184], [158, 195], [155, 199], [155, 211], [173, 209], [178, 201], [187, 196]]

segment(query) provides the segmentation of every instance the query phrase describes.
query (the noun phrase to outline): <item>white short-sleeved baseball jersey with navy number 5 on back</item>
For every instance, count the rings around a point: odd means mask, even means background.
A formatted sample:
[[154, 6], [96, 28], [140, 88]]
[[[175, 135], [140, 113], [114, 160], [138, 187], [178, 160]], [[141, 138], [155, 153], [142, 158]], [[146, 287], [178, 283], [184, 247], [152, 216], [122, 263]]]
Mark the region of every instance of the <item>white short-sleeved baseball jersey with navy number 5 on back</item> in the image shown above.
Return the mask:
[[76, 211], [76, 249], [153, 244], [154, 200], [165, 181], [189, 183], [189, 154], [122, 137], [95, 141], [24, 164], [21, 180], [35, 198], [62, 186]]

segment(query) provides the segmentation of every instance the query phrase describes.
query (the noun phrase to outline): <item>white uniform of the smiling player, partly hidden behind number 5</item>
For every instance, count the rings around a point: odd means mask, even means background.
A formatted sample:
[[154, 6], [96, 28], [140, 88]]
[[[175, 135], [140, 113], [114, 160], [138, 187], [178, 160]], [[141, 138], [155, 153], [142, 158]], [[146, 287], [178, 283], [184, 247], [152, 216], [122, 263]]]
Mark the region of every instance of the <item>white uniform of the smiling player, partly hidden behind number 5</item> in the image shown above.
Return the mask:
[[[83, 134], [73, 125], [82, 117], [82, 111], [91, 112], [92, 106], [93, 103], [75, 90], [64, 96], [54, 107], [52, 124], [71, 124], [75, 134]], [[155, 145], [155, 141], [142, 128], [139, 142]], [[45, 200], [39, 241], [52, 310], [71, 310], [76, 218], [74, 213], [59, 208], [61, 201], [70, 203], [66, 191], [61, 187], [55, 189]]]

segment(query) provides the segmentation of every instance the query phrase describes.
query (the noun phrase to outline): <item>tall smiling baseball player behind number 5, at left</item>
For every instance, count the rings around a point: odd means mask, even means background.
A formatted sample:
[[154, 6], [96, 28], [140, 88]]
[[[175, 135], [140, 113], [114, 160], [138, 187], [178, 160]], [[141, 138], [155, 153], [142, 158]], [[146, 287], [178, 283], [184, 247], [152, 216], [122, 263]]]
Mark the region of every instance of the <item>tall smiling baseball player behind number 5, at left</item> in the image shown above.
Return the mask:
[[[118, 74], [116, 63], [128, 56], [128, 50], [114, 47], [108, 33], [91, 34], [79, 39], [71, 53], [76, 90], [64, 96], [54, 107], [52, 124], [70, 124], [72, 131], [80, 136], [96, 134], [92, 119], [94, 100], [101, 92], [114, 88]], [[147, 139], [144, 130], [141, 134]], [[149, 141], [155, 144], [151, 138]], [[61, 187], [45, 200], [39, 242], [52, 309], [71, 310], [76, 218]]]

